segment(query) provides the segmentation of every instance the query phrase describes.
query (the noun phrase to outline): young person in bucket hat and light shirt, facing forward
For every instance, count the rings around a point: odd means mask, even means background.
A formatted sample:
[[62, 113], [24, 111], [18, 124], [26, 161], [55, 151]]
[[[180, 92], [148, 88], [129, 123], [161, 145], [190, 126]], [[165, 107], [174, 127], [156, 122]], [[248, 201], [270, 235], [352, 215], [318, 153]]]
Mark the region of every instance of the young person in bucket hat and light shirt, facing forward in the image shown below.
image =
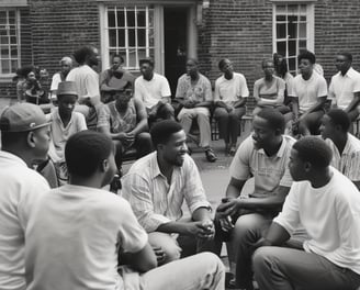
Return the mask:
[[48, 115], [52, 136], [48, 155], [55, 165], [57, 177], [61, 183], [61, 181], [67, 181], [67, 169], [64, 157], [65, 144], [71, 135], [88, 127], [85, 116], [79, 112], [74, 112], [75, 104], [78, 100], [74, 81], [63, 81], [58, 85], [57, 100], [58, 108]]

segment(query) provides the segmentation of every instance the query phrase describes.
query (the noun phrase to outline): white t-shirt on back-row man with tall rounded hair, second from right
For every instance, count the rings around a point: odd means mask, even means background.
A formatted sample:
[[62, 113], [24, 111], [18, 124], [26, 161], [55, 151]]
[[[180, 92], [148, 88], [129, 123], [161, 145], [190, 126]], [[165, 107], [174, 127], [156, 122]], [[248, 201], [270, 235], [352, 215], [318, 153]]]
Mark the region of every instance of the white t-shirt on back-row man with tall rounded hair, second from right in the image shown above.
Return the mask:
[[288, 93], [290, 97], [299, 98], [301, 113], [311, 109], [317, 102], [317, 98], [327, 97], [326, 80], [315, 70], [308, 80], [303, 79], [302, 75], [297, 75], [292, 85], [292, 91]]

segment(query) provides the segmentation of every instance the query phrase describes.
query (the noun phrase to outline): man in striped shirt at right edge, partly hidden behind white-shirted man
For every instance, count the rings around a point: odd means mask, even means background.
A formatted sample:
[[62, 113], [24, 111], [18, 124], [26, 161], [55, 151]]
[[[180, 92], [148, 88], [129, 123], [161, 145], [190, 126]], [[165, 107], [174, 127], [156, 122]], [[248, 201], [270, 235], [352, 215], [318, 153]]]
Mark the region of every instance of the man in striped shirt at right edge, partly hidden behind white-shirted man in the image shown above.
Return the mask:
[[331, 148], [331, 166], [360, 189], [360, 141], [351, 135], [349, 115], [341, 109], [331, 109], [323, 116], [320, 132]]

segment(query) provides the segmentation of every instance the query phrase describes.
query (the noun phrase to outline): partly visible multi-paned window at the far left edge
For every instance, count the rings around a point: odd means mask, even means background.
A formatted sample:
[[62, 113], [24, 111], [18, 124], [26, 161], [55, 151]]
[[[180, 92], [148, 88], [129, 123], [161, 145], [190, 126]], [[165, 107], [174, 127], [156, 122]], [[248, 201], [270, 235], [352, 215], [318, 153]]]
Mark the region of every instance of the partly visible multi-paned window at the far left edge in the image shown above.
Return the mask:
[[20, 67], [20, 12], [0, 9], [0, 75], [10, 75]]

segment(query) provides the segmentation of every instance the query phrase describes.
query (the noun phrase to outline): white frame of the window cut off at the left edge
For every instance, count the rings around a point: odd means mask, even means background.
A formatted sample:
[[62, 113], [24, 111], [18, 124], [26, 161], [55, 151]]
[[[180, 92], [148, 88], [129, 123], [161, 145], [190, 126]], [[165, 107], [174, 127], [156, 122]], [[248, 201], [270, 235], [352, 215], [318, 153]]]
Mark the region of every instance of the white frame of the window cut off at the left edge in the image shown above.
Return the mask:
[[[20, 15], [20, 10], [18, 8], [10, 8], [10, 7], [1, 7], [0, 5], [0, 11], [7, 11], [7, 14], [9, 13], [9, 11], [14, 11], [15, 12], [15, 29], [16, 29], [16, 48], [18, 48], [18, 57], [16, 58], [11, 58], [11, 46], [12, 44], [10, 43], [9, 40], [9, 44], [8, 44], [8, 49], [9, 49], [9, 55], [8, 57], [3, 57], [0, 53], [0, 79], [2, 80], [8, 80], [11, 79], [13, 76], [15, 76], [15, 69], [21, 67], [21, 15]], [[9, 26], [9, 22], [7, 22], [7, 25]], [[9, 29], [9, 27], [8, 27]], [[10, 38], [10, 36], [8, 36]], [[1, 45], [0, 46], [5, 46], [7, 45]], [[2, 58], [3, 57], [3, 58]], [[3, 59], [10, 59], [10, 71], [13, 70], [13, 72], [2, 72], [2, 60]], [[12, 67], [11, 65], [11, 60], [12, 59], [16, 59], [18, 60], [18, 65], [16, 67]]]

